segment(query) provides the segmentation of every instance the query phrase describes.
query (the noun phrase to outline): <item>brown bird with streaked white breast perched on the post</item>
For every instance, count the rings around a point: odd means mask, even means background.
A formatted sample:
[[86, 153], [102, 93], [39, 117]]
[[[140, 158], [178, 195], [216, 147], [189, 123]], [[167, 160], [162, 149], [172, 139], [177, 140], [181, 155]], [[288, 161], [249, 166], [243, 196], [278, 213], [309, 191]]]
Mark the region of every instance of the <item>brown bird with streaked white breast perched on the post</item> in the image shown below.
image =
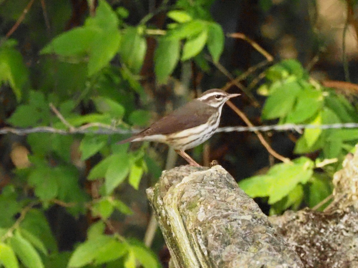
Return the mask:
[[198, 98], [155, 121], [148, 128], [118, 142], [154, 141], [168, 144], [189, 165], [200, 167], [185, 150], [208, 140], [220, 123], [221, 111], [227, 100], [241, 94], [229, 94], [220, 89], [210, 89]]

